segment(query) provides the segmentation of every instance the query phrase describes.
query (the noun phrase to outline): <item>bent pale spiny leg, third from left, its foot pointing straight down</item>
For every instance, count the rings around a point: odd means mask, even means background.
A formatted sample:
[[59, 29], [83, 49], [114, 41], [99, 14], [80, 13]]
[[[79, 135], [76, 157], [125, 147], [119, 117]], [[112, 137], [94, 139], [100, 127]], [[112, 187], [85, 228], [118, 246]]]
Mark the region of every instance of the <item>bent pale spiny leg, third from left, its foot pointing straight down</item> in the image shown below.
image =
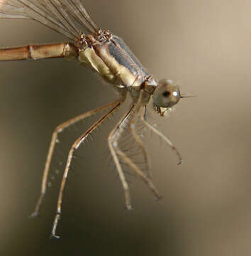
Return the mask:
[[123, 174], [123, 169], [121, 167], [121, 163], [119, 162], [118, 156], [116, 154], [116, 147], [118, 146], [118, 139], [121, 136], [121, 132], [123, 131], [124, 124], [127, 122], [128, 118], [130, 117], [130, 114], [135, 109], [135, 103], [133, 103], [126, 112], [123, 117], [119, 120], [119, 122], [116, 124], [116, 126], [113, 128], [111, 133], [108, 136], [108, 147], [111, 151], [111, 156], [113, 157], [113, 161], [116, 165], [116, 169], [118, 171], [118, 175], [121, 178], [121, 183], [123, 186], [123, 190], [125, 193], [125, 207], [128, 210], [132, 209], [132, 206], [130, 204], [130, 191], [127, 181], [125, 180], [125, 175]]

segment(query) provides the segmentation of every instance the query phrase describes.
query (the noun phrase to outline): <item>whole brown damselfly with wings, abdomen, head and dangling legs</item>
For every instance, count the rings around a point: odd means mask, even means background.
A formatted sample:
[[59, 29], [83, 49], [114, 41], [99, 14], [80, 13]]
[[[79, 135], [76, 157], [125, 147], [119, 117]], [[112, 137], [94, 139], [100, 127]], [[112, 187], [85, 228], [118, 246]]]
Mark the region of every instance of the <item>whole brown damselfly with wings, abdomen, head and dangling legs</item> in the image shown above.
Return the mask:
[[74, 152], [100, 124], [123, 104], [126, 95], [130, 95], [131, 105], [108, 136], [108, 148], [116, 165], [118, 176], [121, 179], [125, 193], [125, 206], [128, 209], [132, 208], [128, 182], [125, 179], [121, 161], [130, 166], [130, 169], [147, 183], [147, 186], [149, 186], [157, 198], [161, 198], [160, 193], [152, 183], [150, 172], [146, 173], [135, 164], [130, 156], [120, 148], [118, 139], [121, 137], [123, 129], [129, 127], [130, 135], [135, 140], [135, 143], [138, 144], [147, 163], [145, 146], [135, 129], [135, 122], [140, 119], [140, 122], [147, 129], [150, 129], [158, 137], [161, 137], [174, 150], [179, 159], [178, 164], [180, 164], [182, 157], [179, 151], [177, 151], [176, 147], [164, 134], [158, 131], [154, 125], [147, 122], [146, 116], [147, 106], [149, 105], [160, 116], [167, 114], [167, 111], [173, 105], [177, 104], [180, 98], [184, 97], [180, 94], [178, 85], [172, 80], [167, 79], [157, 81], [152, 75], [148, 74], [121, 38], [108, 30], [101, 29], [95, 23], [84, 8], [82, 0], [0, 0], [0, 18], [30, 18], [62, 33], [69, 39], [69, 42], [65, 43], [1, 48], [1, 61], [70, 58], [77, 60], [84, 67], [94, 70], [103, 80], [110, 83], [114, 87], [114, 90], [118, 92], [118, 95], [120, 95], [118, 100], [80, 114], [55, 128], [45, 162], [40, 197], [32, 215], [38, 215], [40, 205], [45, 196], [52, 154], [57, 144], [58, 134], [70, 125], [106, 110], [106, 114], [77, 138], [69, 149], [57, 200], [57, 212], [52, 225], [52, 236], [58, 238], [56, 228], [62, 211], [62, 195]]

